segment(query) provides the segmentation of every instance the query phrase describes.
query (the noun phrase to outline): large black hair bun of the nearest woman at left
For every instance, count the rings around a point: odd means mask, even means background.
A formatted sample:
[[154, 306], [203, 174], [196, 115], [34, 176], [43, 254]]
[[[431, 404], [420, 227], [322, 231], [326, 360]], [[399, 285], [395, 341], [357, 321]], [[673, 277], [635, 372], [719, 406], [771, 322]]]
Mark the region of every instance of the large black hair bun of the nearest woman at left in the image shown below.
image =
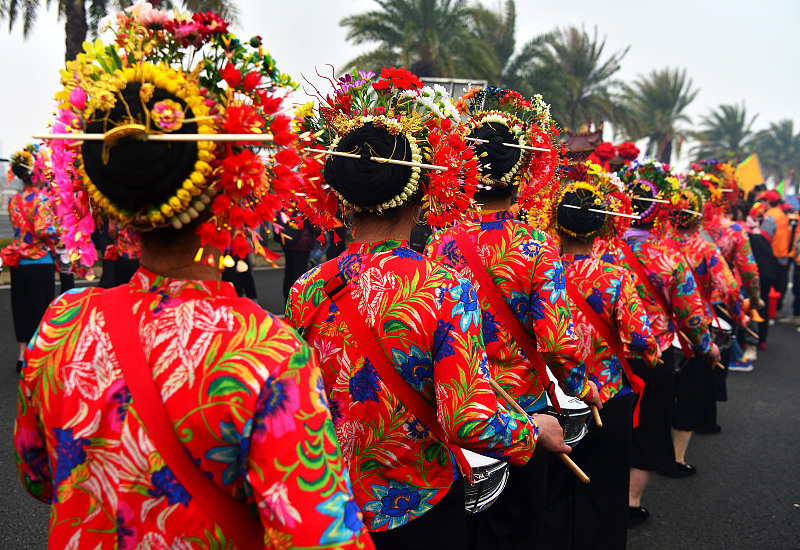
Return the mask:
[[[116, 105], [108, 113], [108, 123], [103, 121], [103, 114], [98, 113], [98, 120], [88, 125], [87, 133], [104, 133], [130, 122], [128, 110], [137, 122], [143, 123], [145, 112], [139, 97], [140, 88], [139, 84], [129, 83], [121, 92], [125, 101], [117, 98]], [[194, 117], [182, 99], [158, 88], [147, 102], [147, 108], [152, 109], [164, 99], [179, 103], [185, 118]], [[172, 133], [196, 134], [197, 123], [185, 123]], [[85, 141], [82, 153], [86, 173], [97, 188], [116, 207], [136, 212], [148, 205], [158, 205], [175, 194], [194, 170], [197, 143], [122, 138], [110, 146], [107, 163], [103, 162], [102, 141]]]

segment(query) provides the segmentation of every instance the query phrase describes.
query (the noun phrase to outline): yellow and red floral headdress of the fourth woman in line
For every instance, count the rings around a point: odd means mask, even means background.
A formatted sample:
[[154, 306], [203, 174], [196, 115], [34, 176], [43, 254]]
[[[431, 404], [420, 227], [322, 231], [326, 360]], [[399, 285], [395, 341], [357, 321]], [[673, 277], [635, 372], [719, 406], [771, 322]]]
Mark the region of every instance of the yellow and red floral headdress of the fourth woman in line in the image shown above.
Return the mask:
[[[561, 226], [558, 222], [558, 208], [564, 202], [565, 195], [570, 193], [583, 197], [580, 205], [582, 208], [606, 212], [605, 223], [595, 231], [581, 235]], [[571, 237], [602, 237], [613, 240], [625, 234], [633, 215], [631, 201], [625, 193], [622, 181], [615, 174], [609, 174], [600, 165], [588, 160], [567, 171], [560, 185], [553, 187], [549, 203], [552, 206], [547, 211], [547, 225], [549, 232], [554, 235], [560, 231]]]

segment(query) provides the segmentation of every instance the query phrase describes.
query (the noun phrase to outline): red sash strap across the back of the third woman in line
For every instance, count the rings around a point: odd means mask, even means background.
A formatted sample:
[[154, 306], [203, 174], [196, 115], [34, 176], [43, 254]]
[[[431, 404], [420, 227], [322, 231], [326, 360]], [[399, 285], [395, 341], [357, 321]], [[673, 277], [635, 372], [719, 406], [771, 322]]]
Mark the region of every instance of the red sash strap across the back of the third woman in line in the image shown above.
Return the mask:
[[467, 265], [472, 270], [472, 274], [475, 275], [475, 279], [480, 283], [481, 291], [486, 294], [486, 298], [488, 298], [492, 309], [506, 326], [506, 329], [511, 333], [516, 343], [522, 348], [528, 361], [533, 365], [533, 369], [536, 371], [536, 375], [539, 377], [542, 387], [550, 397], [550, 403], [553, 405], [556, 412], [561, 414], [561, 405], [556, 397], [555, 384], [547, 375], [547, 366], [541, 354], [539, 354], [539, 350], [536, 349], [536, 341], [528, 335], [528, 332], [525, 330], [519, 318], [514, 315], [508, 302], [506, 302], [503, 295], [500, 294], [500, 290], [497, 288], [497, 285], [494, 284], [489, 270], [483, 265], [481, 257], [478, 255], [478, 250], [469, 239], [469, 235], [463, 231], [458, 231], [455, 234], [455, 241]]

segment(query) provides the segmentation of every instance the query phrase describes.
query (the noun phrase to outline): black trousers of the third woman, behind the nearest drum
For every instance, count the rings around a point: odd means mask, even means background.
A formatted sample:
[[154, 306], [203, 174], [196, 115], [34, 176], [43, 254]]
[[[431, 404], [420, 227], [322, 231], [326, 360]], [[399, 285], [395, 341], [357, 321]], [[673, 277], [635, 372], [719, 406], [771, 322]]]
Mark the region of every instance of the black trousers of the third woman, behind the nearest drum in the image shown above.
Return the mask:
[[508, 484], [497, 501], [467, 518], [471, 549], [542, 548], [549, 458], [547, 451], [536, 450], [524, 466], [509, 466]]

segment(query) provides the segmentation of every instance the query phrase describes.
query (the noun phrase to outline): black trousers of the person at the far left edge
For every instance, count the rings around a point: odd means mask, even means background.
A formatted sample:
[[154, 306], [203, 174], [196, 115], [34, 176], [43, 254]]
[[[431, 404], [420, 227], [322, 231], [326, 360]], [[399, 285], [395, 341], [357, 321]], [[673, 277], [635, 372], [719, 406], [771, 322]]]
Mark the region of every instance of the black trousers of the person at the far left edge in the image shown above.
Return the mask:
[[17, 342], [27, 344], [56, 297], [56, 272], [53, 264], [19, 265], [10, 271], [14, 334]]

